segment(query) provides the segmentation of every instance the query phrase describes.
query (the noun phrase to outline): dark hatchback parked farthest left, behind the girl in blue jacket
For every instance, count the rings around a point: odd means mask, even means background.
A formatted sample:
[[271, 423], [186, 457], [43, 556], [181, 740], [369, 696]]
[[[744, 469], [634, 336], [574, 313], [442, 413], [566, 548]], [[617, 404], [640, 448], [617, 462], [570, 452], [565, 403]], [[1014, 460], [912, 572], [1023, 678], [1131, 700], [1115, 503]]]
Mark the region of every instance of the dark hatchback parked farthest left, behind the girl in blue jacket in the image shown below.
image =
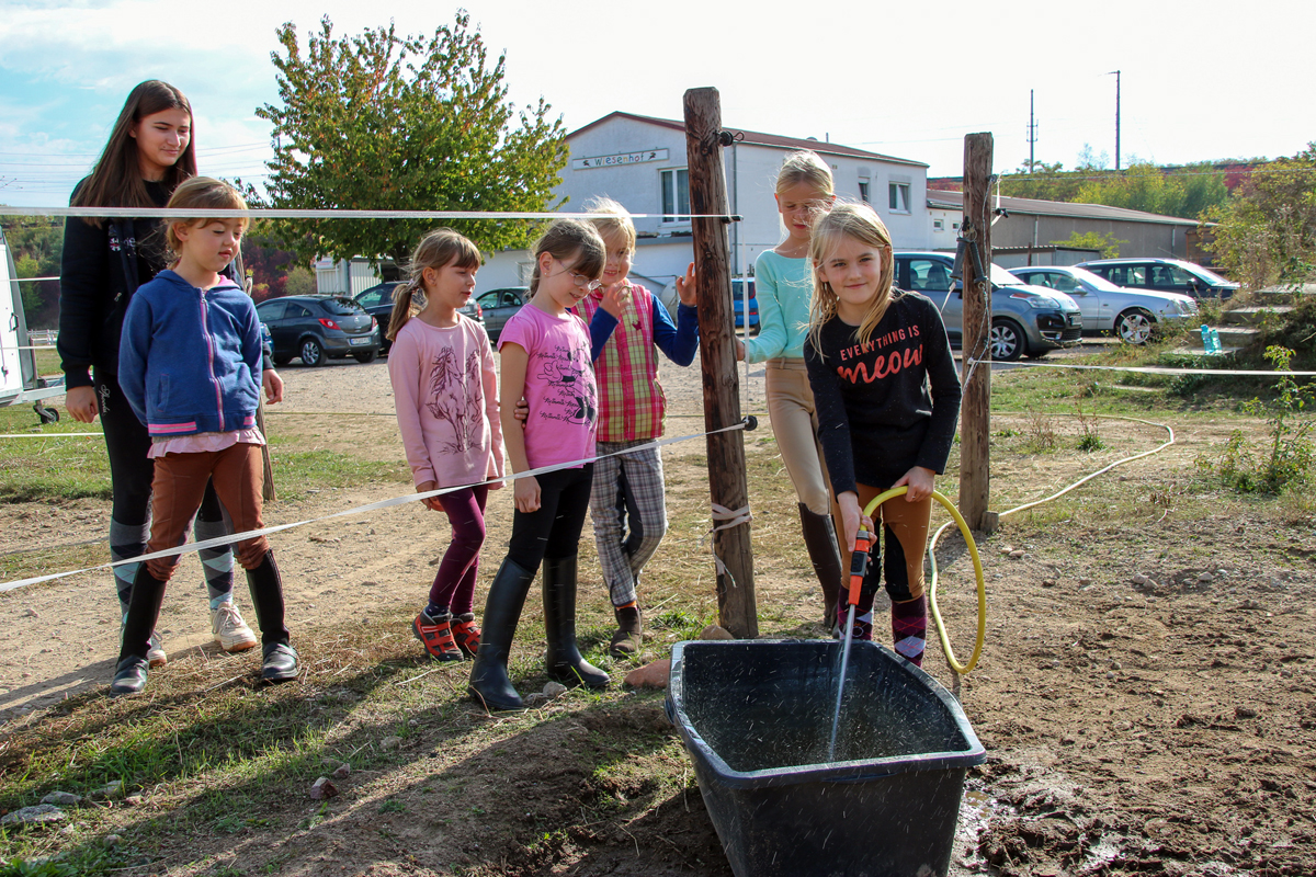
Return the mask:
[[379, 325], [346, 296], [284, 296], [262, 301], [255, 312], [270, 329], [278, 366], [293, 356], [312, 367], [343, 356], [358, 363], [379, 356]]

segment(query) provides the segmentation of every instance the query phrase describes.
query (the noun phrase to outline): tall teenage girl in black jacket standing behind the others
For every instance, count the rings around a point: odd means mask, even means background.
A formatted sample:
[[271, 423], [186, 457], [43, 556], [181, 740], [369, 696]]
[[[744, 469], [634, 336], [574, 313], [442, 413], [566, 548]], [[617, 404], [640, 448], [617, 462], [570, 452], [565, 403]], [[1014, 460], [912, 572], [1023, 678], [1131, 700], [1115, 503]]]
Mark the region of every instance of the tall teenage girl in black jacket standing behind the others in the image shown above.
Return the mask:
[[[150, 80], [129, 95], [105, 151], [91, 176], [74, 189], [72, 206], [162, 208], [183, 180], [196, 175], [192, 108], [172, 85]], [[128, 302], [139, 285], [166, 267], [159, 220], [79, 218], [64, 222], [59, 284], [59, 356], [74, 419], [91, 423], [100, 415], [109, 454], [113, 509], [109, 552], [113, 560], [146, 550], [154, 464], [146, 456], [150, 437], [118, 388], [118, 335]], [[283, 381], [266, 363], [271, 401], [283, 396]], [[197, 539], [229, 535], [222, 506], [212, 488], [196, 521]], [[251, 628], [233, 605], [233, 554], [228, 547], [200, 552], [211, 596], [215, 638], [225, 651], [255, 646]], [[128, 613], [138, 564], [114, 568], [122, 614]], [[151, 665], [166, 660], [151, 635]]]

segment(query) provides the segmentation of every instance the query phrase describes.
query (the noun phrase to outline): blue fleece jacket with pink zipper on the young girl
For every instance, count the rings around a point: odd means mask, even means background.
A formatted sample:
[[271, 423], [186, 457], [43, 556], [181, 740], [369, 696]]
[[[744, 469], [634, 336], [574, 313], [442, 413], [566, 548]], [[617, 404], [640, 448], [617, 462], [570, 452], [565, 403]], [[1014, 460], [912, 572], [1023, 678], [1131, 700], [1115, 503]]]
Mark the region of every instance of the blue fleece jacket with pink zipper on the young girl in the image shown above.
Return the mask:
[[255, 426], [261, 322], [250, 296], [230, 280], [201, 291], [159, 272], [128, 305], [118, 385], [153, 438]]

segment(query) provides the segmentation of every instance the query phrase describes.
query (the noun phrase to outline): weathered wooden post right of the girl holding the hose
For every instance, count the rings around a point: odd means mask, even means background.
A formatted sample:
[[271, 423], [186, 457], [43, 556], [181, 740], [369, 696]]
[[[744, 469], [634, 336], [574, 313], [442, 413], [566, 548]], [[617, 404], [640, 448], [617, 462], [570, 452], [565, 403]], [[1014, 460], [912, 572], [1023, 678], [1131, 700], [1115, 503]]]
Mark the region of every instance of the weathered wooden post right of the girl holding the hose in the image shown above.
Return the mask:
[[[991, 163], [992, 135], [965, 135], [965, 218], [961, 233], [978, 242], [980, 259], [966, 247], [963, 258], [965, 320], [963, 401], [959, 406], [959, 514], [974, 530], [992, 531], [991, 502]], [[980, 262], [986, 276], [979, 276]], [[971, 360], [978, 360], [974, 368]]]

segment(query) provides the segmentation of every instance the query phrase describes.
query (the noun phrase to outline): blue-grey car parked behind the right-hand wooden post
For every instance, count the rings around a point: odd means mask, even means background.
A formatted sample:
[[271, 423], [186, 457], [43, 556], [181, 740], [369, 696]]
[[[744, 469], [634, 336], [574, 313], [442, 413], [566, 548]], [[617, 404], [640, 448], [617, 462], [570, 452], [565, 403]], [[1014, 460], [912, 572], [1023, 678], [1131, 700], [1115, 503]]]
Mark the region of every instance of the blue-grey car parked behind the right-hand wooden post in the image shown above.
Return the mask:
[[[963, 337], [965, 297], [959, 280], [951, 280], [955, 258], [949, 252], [898, 252], [896, 285], [920, 292], [941, 309], [951, 344]], [[1038, 359], [1057, 347], [1073, 347], [1083, 339], [1083, 314], [1078, 304], [1055, 289], [1030, 287], [998, 264], [991, 266], [991, 356], [1013, 362]]]

